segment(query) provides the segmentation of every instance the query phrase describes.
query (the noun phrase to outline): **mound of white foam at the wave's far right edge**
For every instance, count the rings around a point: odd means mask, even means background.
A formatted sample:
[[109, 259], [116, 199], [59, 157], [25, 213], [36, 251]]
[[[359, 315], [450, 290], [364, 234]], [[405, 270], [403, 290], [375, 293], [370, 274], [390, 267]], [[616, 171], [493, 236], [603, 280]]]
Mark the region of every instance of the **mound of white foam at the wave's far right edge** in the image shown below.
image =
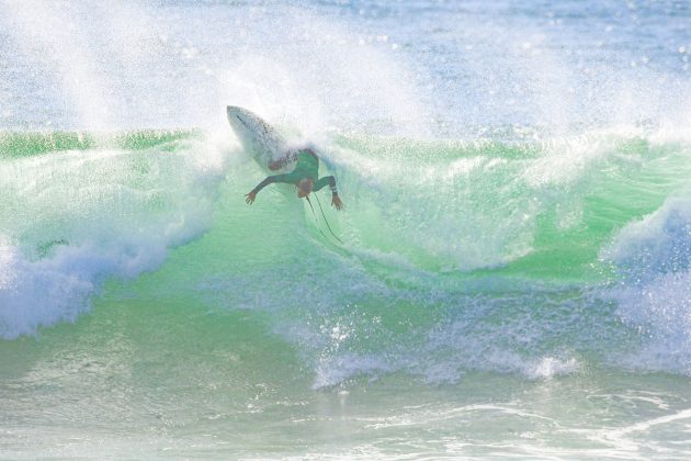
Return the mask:
[[601, 257], [623, 280], [607, 292], [618, 314], [639, 329], [643, 345], [623, 361], [632, 368], [691, 374], [691, 200], [668, 199], [624, 227]]

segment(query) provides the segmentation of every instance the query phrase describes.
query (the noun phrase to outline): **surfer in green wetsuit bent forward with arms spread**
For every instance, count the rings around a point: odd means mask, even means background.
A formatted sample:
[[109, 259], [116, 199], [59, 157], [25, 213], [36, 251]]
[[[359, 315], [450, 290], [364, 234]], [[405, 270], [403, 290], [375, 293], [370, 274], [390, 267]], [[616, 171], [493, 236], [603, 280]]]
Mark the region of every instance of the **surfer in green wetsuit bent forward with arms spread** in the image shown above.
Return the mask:
[[272, 171], [279, 170], [290, 161], [297, 161], [293, 171], [290, 173], [268, 177], [245, 195], [247, 198], [245, 201], [251, 205], [254, 202], [254, 199], [257, 199], [259, 191], [273, 182], [294, 184], [297, 187], [297, 196], [301, 199], [309, 199], [309, 194], [311, 192], [316, 192], [329, 184], [331, 188], [331, 205], [336, 206], [336, 210], [341, 210], [343, 207], [343, 202], [341, 202], [341, 199], [338, 196], [338, 190], [336, 189], [336, 179], [332, 176], [318, 178], [319, 157], [317, 157], [311, 149], [304, 148], [291, 151], [280, 160], [269, 164], [269, 169]]

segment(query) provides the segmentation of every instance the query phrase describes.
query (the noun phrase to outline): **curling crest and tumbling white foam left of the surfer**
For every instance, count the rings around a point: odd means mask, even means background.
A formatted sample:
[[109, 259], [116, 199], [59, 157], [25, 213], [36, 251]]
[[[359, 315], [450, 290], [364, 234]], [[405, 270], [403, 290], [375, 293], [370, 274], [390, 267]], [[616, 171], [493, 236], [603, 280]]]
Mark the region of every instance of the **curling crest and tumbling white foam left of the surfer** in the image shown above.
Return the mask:
[[183, 139], [0, 164], [0, 337], [73, 322], [104, 280], [152, 270], [208, 228], [228, 154]]

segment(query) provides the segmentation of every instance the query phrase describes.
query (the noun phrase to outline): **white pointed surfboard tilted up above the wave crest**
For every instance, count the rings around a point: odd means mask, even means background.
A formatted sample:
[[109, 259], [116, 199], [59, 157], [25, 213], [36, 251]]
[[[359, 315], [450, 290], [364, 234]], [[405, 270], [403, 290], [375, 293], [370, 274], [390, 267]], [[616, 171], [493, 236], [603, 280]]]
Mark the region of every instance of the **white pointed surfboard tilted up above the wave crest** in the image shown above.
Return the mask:
[[259, 115], [243, 108], [228, 105], [226, 108], [228, 123], [252, 158], [265, 171], [269, 164], [277, 160], [285, 153], [287, 143], [283, 136]]

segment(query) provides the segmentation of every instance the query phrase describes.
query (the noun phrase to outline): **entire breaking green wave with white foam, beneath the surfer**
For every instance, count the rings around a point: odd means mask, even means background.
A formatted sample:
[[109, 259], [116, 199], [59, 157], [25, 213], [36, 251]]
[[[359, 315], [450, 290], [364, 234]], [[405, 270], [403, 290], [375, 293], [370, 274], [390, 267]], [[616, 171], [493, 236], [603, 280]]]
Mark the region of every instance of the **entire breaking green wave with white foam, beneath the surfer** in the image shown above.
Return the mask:
[[[317, 387], [396, 370], [452, 382], [468, 370], [552, 375], [593, 360], [626, 366], [650, 348], [644, 369], [689, 373], [686, 142], [339, 135], [319, 151], [348, 213], [322, 194], [322, 216], [287, 185], [248, 207], [261, 169], [230, 136], [4, 139], [5, 339], [73, 322], [104, 281], [156, 270], [195, 240], [178, 262], [181, 295], [269, 313]], [[180, 280], [157, 290], [179, 292]]]

